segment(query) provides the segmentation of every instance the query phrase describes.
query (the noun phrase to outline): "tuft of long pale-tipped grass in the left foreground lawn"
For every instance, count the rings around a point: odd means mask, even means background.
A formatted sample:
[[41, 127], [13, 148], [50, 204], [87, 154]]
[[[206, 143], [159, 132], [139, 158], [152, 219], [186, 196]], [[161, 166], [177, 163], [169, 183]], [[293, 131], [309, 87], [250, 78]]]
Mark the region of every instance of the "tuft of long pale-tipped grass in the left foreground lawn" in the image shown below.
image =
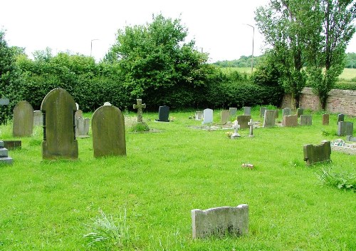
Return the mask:
[[126, 209], [124, 215], [121, 214], [116, 221], [112, 215], [106, 215], [103, 210], [100, 210], [100, 216], [93, 218], [90, 227], [91, 232], [84, 235], [88, 238], [89, 246], [92, 245], [107, 245], [110, 247], [123, 247], [130, 240], [129, 227], [126, 224]]

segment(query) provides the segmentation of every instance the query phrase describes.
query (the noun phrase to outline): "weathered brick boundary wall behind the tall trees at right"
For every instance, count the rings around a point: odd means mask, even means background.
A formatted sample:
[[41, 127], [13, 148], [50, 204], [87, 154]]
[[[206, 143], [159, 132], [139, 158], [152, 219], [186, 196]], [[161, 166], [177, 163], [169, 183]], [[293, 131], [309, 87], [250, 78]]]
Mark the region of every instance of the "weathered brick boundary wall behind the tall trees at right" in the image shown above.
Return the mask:
[[[283, 97], [282, 108], [290, 107], [290, 95]], [[320, 110], [319, 98], [312, 92], [312, 88], [305, 87], [300, 98], [300, 108]], [[356, 116], [356, 91], [333, 89], [329, 93], [326, 105], [329, 113], [344, 113]]]

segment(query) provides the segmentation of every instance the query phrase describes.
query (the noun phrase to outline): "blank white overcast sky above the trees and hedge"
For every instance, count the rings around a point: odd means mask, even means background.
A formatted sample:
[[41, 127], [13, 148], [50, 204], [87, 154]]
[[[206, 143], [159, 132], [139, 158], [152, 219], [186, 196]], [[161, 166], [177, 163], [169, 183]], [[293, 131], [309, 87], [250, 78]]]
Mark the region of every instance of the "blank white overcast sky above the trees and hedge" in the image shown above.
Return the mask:
[[[33, 51], [46, 47], [53, 54], [70, 51], [99, 60], [115, 43], [118, 29], [152, 21], [152, 14], [180, 19], [188, 40], [209, 53], [210, 62], [251, 55], [254, 11], [268, 0], [8, 0], [2, 1], [0, 30], [10, 46]], [[95, 40], [94, 40], [95, 39]], [[98, 39], [98, 40], [96, 40]], [[92, 47], [92, 49], [90, 49]], [[262, 53], [263, 36], [255, 27], [254, 55]], [[356, 37], [347, 52], [356, 52]]]

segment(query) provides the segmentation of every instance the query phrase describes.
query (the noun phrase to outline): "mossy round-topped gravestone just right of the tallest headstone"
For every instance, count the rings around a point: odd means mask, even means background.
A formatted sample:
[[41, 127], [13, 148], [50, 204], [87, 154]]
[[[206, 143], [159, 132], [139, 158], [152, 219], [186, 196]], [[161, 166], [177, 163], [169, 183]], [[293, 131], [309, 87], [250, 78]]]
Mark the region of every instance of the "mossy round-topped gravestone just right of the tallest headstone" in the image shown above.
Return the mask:
[[94, 157], [126, 155], [125, 119], [119, 108], [101, 106], [91, 122]]

